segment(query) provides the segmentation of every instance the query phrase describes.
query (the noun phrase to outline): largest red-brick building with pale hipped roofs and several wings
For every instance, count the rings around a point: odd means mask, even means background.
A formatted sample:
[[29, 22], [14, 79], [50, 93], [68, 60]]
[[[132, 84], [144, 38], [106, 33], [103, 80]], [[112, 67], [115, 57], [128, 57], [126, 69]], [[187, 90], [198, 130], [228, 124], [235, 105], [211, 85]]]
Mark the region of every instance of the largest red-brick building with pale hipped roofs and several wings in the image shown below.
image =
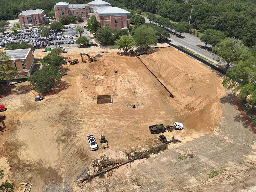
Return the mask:
[[88, 4], [69, 4], [58, 2], [54, 5], [55, 18], [59, 21], [60, 16], [68, 18], [73, 15], [83, 20], [95, 15], [101, 26], [109, 26], [117, 29], [127, 29], [130, 26], [130, 12], [118, 7], [111, 7], [108, 2], [95, 0]]

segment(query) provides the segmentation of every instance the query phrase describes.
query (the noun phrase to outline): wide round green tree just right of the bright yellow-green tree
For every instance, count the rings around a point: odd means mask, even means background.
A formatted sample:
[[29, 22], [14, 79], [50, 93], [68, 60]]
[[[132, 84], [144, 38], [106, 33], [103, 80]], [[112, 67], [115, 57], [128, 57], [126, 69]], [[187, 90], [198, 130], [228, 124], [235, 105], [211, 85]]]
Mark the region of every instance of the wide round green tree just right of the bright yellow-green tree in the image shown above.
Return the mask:
[[142, 25], [135, 29], [133, 39], [140, 48], [147, 48], [148, 45], [156, 45], [158, 36], [152, 27]]

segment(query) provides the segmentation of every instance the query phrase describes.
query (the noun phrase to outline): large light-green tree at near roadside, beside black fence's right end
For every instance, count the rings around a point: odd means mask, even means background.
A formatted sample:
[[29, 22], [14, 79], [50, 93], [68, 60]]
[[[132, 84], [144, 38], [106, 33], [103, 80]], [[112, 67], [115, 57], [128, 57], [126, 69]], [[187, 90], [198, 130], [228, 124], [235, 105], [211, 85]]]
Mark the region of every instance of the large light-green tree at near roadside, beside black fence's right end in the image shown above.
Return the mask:
[[218, 55], [217, 61], [227, 63], [226, 70], [231, 64], [236, 64], [239, 60], [246, 60], [249, 57], [249, 51], [242, 41], [233, 37], [223, 39], [213, 51]]

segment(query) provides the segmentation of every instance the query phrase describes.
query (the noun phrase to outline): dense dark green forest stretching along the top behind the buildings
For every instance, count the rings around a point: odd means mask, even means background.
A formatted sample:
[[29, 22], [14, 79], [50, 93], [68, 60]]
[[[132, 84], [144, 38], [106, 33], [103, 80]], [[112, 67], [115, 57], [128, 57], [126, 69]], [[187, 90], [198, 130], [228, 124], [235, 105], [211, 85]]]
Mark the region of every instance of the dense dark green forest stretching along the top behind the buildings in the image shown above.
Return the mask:
[[[26, 9], [41, 8], [53, 17], [53, 5], [60, 0], [2, 0], [0, 20], [17, 19]], [[167, 17], [172, 21], [189, 22], [190, 8], [192, 27], [204, 32], [206, 29], [223, 31], [226, 36], [241, 39], [251, 47], [256, 45], [256, 2], [254, 0], [107, 0], [112, 6], [142, 10]], [[86, 0], [68, 0], [73, 4], [88, 3]]]

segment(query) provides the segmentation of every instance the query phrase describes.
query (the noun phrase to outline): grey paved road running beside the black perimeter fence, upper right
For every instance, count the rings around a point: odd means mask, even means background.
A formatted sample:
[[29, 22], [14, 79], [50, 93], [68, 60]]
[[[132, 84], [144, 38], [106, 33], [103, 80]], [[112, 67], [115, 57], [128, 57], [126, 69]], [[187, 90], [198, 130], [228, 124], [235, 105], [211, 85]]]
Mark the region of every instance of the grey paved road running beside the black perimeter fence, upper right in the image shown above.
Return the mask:
[[[147, 17], [144, 17], [144, 18], [145, 18], [146, 23], [150, 23], [150, 21], [147, 19]], [[191, 50], [191, 51], [205, 57], [206, 59], [211, 60], [212, 62], [218, 64], [218, 62], [216, 61], [217, 55], [212, 54], [211, 52], [206, 51], [204, 49], [201, 49], [197, 46], [197, 45], [203, 45], [204, 46], [204, 43], [201, 42], [201, 40], [199, 38], [194, 37], [194, 36], [192, 36], [188, 33], [182, 33], [182, 36], [184, 38], [178, 38], [177, 36], [172, 35], [172, 41], [173, 41], [172, 43], [174, 45], [181, 45], [183, 47], [186, 47], [189, 50]], [[211, 47], [211, 45], [208, 45], [208, 47]], [[223, 66], [225, 66], [225, 64], [220, 63], [220, 66], [223, 67]]]

